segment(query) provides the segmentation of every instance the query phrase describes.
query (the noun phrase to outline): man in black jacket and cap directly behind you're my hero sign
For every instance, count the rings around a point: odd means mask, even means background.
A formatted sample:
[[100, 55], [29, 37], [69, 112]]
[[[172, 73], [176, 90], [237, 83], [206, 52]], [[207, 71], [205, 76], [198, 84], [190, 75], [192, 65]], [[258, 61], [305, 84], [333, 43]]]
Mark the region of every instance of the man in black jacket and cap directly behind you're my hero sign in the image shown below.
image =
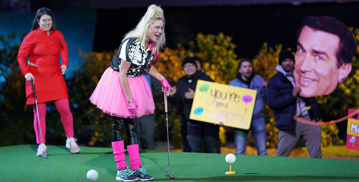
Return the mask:
[[182, 117], [185, 118], [183, 125], [187, 125], [187, 134], [181, 131], [182, 138], [186, 137], [193, 152], [220, 153], [219, 126], [211, 123], [191, 120], [190, 112], [195, 95], [198, 80], [214, 82], [208, 75], [197, 70], [195, 59], [186, 57], [182, 61], [185, 76], [180, 78], [173, 86], [169, 95], [169, 101], [179, 103], [182, 107]]

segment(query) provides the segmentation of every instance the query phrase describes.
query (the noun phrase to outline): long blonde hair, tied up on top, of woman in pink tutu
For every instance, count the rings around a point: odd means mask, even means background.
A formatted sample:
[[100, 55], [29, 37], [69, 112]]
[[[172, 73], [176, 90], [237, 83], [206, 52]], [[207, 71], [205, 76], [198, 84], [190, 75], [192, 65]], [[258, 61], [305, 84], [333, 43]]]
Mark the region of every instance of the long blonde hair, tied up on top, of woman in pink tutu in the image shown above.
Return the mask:
[[[156, 6], [154, 4], [148, 6], [145, 15], [141, 18], [140, 22], [136, 25], [136, 28], [132, 29], [129, 33], [125, 35], [123, 40], [134, 37], [140, 40], [140, 43], [144, 44], [147, 38], [147, 29], [148, 27], [153, 24], [155, 20], [162, 20], [163, 21], [163, 30], [160, 34], [157, 43], [153, 44], [153, 48], [155, 51], [152, 51], [152, 54], [158, 52], [159, 49], [163, 49], [164, 44], [166, 43], [165, 34], [164, 34], [164, 15], [163, 9], [160, 6]], [[122, 40], [122, 41], [123, 41]]]

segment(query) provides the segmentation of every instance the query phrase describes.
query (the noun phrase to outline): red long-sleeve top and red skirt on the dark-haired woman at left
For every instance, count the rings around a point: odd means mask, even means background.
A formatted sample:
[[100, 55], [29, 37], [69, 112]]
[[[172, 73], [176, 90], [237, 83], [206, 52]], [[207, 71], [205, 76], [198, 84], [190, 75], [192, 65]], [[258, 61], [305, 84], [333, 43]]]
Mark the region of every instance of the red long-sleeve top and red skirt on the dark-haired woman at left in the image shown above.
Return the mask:
[[[69, 98], [66, 83], [60, 68], [69, 66], [69, 54], [64, 35], [52, 30], [47, 35], [40, 28], [31, 31], [24, 37], [17, 56], [21, 72], [25, 76], [32, 73], [35, 77], [36, 99], [38, 103]], [[37, 66], [27, 65], [26, 59]], [[35, 104], [32, 82], [26, 81], [26, 104]]]

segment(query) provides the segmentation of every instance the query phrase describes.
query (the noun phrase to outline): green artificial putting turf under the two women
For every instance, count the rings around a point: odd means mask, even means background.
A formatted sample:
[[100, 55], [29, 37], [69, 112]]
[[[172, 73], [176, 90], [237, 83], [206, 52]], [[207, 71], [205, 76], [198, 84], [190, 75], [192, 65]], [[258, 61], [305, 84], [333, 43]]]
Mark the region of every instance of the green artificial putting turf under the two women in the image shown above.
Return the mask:
[[[80, 154], [71, 154], [65, 146], [47, 145], [48, 159], [36, 157], [38, 145], [0, 147], [0, 181], [87, 182], [87, 172], [98, 172], [95, 182], [117, 181], [116, 163], [111, 148], [81, 147]], [[126, 162], [129, 163], [126, 152]], [[170, 152], [169, 174], [167, 151], [140, 150], [142, 166], [154, 181], [246, 181], [246, 182], [339, 182], [359, 181], [359, 162], [336, 159], [310, 159], [236, 155], [232, 171], [225, 154]]]

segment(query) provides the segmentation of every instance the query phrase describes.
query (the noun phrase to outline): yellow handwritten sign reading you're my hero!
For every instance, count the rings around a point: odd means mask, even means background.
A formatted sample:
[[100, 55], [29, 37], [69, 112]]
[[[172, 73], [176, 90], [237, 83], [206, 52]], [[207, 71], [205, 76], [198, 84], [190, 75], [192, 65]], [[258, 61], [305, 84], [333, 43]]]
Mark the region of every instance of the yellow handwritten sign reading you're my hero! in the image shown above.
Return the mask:
[[256, 96], [256, 90], [199, 80], [190, 119], [249, 129]]

